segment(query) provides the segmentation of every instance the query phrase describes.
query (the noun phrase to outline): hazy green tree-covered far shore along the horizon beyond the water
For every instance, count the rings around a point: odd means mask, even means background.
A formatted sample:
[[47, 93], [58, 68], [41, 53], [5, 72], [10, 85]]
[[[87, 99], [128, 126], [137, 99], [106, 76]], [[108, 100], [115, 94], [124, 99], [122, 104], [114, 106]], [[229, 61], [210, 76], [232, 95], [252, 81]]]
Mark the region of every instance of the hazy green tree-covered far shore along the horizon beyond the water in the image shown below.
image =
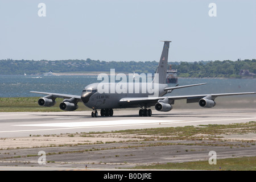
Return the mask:
[[[256, 78], [256, 59], [237, 61], [195, 61], [170, 62], [177, 69], [178, 77], [235, 77], [250, 76]], [[155, 73], [158, 61], [100, 61], [100, 60], [0, 60], [0, 75], [42, 75], [46, 72], [115, 72]], [[250, 75], [241, 75], [247, 71]]]

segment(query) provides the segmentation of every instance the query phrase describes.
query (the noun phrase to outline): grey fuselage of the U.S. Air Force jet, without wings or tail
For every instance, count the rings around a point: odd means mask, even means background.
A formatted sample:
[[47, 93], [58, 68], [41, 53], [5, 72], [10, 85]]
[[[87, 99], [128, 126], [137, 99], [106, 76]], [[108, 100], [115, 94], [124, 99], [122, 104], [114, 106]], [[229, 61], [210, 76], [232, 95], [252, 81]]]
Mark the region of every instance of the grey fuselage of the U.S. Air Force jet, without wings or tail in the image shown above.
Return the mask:
[[[85, 106], [92, 109], [114, 109], [125, 107], [142, 107], [144, 104], [123, 104], [122, 98], [159, 97], [167, 93], [164, 91], [167, 84], [152, 82], [119, 82], [94, 83], [82, 90], [81, 100]], [[152, 105], [147, 105], [148, 107]]]

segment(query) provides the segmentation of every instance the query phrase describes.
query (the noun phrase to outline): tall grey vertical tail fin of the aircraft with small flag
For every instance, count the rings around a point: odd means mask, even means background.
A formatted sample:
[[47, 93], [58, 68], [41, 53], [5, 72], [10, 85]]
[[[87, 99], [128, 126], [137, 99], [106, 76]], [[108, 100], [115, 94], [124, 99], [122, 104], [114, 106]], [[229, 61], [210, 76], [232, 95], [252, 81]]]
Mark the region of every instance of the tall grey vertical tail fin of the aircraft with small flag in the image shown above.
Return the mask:
[[168, 68], [168, 52], [171, 41], [163, 41], [163, 51], [160, 57], [160, 61], [158, 64], [158, 69], [156, 69], [156, 73], [158, 73], [159, 84], [166, 84], [166, 72]]

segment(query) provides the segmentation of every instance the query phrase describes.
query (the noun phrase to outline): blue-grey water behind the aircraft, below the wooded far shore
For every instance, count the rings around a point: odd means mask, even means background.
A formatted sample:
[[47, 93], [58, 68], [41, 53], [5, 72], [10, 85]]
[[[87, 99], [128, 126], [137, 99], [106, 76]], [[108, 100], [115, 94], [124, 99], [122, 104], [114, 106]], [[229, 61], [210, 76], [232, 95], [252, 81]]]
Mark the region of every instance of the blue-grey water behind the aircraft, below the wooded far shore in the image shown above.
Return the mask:
[[[0, 75], [0, 97], [40, 97], [30, 91], [53, 92], [80, 95], [86, 85], [97, 80], [97, 76], [23, 76]], [[199, 84], [174, 90], [172, 96], [205, 93], [256, 92], [256, 79], [233, 78], [179, 78], [179, 85]], [[174, 86], [176, 84], [169, 84]], [[168, 95], [170, 95], [168, 94]]]

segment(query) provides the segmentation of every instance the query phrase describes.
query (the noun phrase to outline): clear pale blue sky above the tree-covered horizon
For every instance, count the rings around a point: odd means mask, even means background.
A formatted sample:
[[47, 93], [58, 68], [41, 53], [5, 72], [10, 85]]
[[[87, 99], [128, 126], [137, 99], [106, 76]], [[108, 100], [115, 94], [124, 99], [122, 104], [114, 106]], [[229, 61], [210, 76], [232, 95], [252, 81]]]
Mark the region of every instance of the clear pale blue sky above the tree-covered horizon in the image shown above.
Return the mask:
[[160, 40], [169, 61], [256, 59], [255, 32], [251, 0], [0, 0], [0, 59], [159, 61]]

